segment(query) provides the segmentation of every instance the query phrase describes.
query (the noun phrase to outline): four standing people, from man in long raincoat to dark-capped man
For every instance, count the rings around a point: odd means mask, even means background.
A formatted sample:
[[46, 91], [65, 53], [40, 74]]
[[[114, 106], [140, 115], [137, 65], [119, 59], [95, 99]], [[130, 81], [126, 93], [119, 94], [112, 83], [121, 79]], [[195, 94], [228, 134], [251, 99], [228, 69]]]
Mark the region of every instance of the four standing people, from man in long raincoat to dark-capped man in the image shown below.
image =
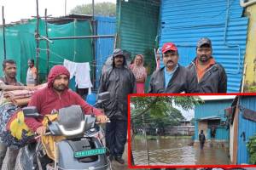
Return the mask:
[[[164, 67], [156, 69], [149, 82], [148, 93], [226, 93], [227, 76], [224, 67], [212, 56], [212, 42], [201, 38], [196, 45], [196, 57], [188, 67], [178, 64], [177, 46], [166, 42], [161, 48]], [[159, 61], [159, 60], [158, 60]], [[159, 66], [158, 62], [158, 66]], [[143, 66], [143, 55], [137, 54], [134, 62], [127, 65], [121, 49], [113, 52], [113, 65], [102, 73], [99, 92], [108, 91], [111, 99], [104, 108], [111, 123], [106, 127], [106, 142], [120, 163], [127, 135], [127, 94], [143, 94], [147, 71]]]

